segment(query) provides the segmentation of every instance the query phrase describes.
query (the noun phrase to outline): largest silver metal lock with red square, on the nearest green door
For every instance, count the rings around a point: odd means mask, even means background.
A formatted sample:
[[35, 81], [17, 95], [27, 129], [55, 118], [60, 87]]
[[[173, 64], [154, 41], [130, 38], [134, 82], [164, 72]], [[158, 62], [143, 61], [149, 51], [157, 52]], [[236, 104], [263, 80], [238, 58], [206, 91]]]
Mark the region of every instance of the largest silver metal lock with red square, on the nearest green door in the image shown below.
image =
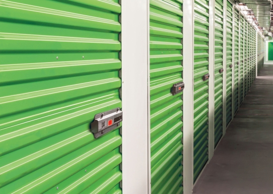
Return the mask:
[[95, 138], [99, 138], [119, 127], [120, 122], [122, 122], [122, 111], [120, 107], [101, 112], [95, 115], [94, 121], [91, 123], [91, 132]]

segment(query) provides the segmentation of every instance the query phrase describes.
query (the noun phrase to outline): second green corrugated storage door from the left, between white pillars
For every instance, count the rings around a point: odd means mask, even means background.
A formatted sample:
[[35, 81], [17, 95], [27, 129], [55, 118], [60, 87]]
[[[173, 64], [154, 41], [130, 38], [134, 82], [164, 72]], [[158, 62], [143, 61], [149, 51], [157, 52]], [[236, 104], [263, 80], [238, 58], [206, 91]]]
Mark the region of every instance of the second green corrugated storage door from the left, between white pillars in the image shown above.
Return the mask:
[[151, 193], [183, 193], [182, 0], [150, 0]]

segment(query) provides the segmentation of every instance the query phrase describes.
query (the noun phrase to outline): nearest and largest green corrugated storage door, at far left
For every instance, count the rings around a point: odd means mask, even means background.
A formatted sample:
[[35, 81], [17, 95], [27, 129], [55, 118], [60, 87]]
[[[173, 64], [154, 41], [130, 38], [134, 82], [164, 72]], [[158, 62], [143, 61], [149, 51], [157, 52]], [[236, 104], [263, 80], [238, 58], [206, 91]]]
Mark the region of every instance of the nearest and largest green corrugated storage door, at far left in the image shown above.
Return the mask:
[[[0, 0], [0, 193], [121, 194], [118, 0]], [[94, 128], [93, 128], [94, 129]]]

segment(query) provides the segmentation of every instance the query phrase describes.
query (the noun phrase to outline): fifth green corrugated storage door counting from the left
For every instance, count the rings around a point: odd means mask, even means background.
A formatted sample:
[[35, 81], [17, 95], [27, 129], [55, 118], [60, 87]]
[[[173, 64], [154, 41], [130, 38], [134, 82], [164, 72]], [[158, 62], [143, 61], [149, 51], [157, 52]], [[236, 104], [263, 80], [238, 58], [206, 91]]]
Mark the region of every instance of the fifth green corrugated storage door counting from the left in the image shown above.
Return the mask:
[[226, 126], [232, 119], [232, 3], [227, 1], [226, 14]]

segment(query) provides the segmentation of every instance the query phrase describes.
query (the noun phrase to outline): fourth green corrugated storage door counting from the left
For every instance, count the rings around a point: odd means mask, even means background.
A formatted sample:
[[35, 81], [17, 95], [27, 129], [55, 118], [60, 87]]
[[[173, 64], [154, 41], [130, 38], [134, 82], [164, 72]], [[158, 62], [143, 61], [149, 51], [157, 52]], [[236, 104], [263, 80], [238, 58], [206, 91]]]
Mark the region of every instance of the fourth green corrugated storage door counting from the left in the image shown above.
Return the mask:
[[214, 146], [223, 135], [223, 1], [215, 0]]

